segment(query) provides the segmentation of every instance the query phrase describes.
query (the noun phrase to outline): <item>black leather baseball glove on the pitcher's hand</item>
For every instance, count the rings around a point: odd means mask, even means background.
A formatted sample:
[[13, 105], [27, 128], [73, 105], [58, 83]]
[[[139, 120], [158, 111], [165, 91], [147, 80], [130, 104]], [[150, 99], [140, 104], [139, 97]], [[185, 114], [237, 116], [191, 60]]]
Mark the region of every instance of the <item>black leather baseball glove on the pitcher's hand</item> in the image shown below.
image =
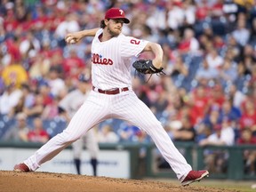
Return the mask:
[[[153, 74], [158, 75], [165, 75], [164, 68], [156, 68], [153, 65], [152, 60], [136, 60], [132, 63], [132, 67], [135, 68], [135, 72], [139, 73], [139, 75], [146, 75], [150, 74], [151, 76]], [[150, 79], [150, 77], [148, 80]], [[148, 82], [148, 81], [147, 81]]]

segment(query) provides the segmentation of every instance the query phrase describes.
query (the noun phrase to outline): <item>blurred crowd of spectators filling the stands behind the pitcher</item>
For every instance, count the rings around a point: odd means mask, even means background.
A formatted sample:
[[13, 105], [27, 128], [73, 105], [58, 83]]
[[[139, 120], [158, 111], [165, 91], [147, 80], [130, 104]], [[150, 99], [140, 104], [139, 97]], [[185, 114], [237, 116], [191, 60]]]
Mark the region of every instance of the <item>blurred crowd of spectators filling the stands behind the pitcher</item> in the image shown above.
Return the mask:
[[[0, 1], [0, 114], [3, 124], [7, 118], [15, 127], [0, 124], [0, 140], [45, 142], [57, 133], [58, 102], [76, 88], [79, 74], [91, 75], [92, 38], [66, 44], [64, 37], [99, 28], [113, 6], [131, 20], [125, 35], [163, 47], [166, 75], [148, 82], [148, 76], [134, 76], [133, 90], [172, 140], [256, 143], [253, 0]], [[150, 142], [145, 132], [115, 119], [96, 132], [101, 142]]]

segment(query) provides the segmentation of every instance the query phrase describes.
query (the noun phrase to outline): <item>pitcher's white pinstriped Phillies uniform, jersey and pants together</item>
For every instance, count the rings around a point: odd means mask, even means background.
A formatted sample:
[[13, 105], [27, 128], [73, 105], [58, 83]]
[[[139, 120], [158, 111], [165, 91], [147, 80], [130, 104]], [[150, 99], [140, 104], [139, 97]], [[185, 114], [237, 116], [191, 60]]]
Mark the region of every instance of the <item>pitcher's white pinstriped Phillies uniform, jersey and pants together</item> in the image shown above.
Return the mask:
[[[94, 88], [71, 119], [67, 129], [45, 143], [24, 163], [31, 171], [35, 171], [41, 164], [59, 154], [63, 148], [78, 140], [95, 124], [108, 118], [119, 118], [147, 132], [178, 179], [183, 180], [192, 170], [191, 166], [173, 145], [156, 116], [132, 91], [131, 58], [138, 56], [148, 42], [123, 34], [100, 42], [100, 34], [101, 28], [92, 41]], [[114, 90], [115, 88], [118, 90]], [[109, 92], [119, 93], [107, 94]]]

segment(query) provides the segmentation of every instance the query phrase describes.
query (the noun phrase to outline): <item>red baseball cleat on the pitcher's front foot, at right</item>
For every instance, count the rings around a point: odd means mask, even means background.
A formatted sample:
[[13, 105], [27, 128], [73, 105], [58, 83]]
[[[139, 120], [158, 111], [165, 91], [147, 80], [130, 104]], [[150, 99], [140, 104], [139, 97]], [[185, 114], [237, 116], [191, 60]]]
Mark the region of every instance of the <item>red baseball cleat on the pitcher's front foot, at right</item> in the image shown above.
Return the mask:
[[188, 175], [184, 180], [182, 180], [181, 185], [182, 186], [188, 186], [190, 183], [200, 181], [204, 179], [205, 177], [209, 177], [209, 172], [206, 170], [202, 171], [190, 171], [188, 172]]

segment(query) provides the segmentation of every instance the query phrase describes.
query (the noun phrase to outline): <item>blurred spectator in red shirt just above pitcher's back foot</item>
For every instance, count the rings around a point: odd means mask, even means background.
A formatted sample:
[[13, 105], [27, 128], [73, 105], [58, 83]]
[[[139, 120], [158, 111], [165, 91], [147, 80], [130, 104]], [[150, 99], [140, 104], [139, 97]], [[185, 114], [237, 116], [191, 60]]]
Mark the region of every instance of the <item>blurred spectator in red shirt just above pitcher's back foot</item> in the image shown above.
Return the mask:
[[28, 141], [45, 143], [50, 139], [49, 134], [44, 130], [43, 121], [36, 117], [33, 121], [33, 130], [28, 132]]

